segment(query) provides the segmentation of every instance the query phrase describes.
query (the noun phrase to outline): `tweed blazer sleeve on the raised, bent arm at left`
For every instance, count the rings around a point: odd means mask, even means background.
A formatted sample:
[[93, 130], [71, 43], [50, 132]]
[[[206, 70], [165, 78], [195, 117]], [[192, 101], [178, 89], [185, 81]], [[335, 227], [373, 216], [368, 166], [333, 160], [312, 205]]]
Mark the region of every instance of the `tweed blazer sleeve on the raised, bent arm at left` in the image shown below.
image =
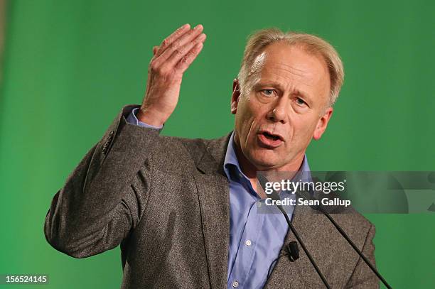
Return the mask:
[[135, 107], [122, 109], [53, 197], [44, 234], [58, 251], [94, 256], [118, 246], [139, 222], [161, 130], [127, 123]]

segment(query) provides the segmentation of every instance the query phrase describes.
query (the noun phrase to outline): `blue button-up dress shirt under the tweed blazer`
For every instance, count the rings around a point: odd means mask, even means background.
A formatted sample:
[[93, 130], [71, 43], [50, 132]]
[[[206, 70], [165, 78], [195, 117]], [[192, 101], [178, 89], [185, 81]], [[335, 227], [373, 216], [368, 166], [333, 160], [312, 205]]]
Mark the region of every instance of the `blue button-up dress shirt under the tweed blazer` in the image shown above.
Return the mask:
[[[135, 114], [137, 108], [127, 117], [130, 124], [151, 126], [139, 121]], [[227, 289], [263, 288], [289, 229], [286, 219], [278, 212], [257, 212], [264, 206], [251, 182], [240, 169], [235, 153], [234, 132], [230, 136], [225, 154], [224, 170], [230, 180], [230, 246], [228, 248]], [[299, 171], [309, 172], [306, 156]], [[294, 198], [289, 192], [281, 192], [280, 197]], [[286, 211], [291, 219], [294, 207]]]

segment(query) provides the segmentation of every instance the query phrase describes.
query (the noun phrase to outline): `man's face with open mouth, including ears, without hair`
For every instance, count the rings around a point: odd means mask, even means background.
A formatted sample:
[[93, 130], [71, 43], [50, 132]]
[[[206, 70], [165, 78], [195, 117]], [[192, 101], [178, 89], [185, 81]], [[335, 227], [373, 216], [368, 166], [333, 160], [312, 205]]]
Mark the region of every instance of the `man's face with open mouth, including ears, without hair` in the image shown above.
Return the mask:
[[251, 72], [247, 93], [240, 94], [238, 81], [233, 83], [235, 142], [257, 170], [297, 170], [294, 165], [301, 163], [311, 138], [321, 138], [332, 114], [326, 62], [276, 42], [257, 56]]

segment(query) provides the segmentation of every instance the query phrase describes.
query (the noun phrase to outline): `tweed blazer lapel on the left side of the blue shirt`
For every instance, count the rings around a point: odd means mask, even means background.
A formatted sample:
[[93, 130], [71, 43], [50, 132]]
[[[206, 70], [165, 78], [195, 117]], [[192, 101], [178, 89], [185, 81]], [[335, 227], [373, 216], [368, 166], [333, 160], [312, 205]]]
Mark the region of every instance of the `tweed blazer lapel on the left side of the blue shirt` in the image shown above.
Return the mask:
[[227, 287], [230, 238], [230, 187], [223, 173], [229, 136], [211, 141], [200, 158], [194, 178], [205, 240], [211, 288]]

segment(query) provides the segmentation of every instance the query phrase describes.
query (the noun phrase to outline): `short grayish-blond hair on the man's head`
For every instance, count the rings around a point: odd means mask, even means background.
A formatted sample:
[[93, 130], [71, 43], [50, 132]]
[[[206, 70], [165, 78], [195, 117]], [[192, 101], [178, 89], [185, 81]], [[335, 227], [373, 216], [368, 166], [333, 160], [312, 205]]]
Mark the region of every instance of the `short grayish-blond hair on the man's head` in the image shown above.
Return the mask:
[[321, 55], [328, 65], [331, 82], [331, 92], [328, 106], [332, 107], [338, 98], [340, 88], [344, 81], [343, 62], [340, 55], [326, 40], [318, 36], [294, 31], [283, 32], [279, 28], [266, 28], [252, 33], [245, 47], [242, 64], [237, 79], [242, 92], [246, 92], [249, 75], [253, 72], [254, 60], [262, 53], [267, 45], [276, 41], [285, 41], [289, 45], [301, 45], [306, 52]]

